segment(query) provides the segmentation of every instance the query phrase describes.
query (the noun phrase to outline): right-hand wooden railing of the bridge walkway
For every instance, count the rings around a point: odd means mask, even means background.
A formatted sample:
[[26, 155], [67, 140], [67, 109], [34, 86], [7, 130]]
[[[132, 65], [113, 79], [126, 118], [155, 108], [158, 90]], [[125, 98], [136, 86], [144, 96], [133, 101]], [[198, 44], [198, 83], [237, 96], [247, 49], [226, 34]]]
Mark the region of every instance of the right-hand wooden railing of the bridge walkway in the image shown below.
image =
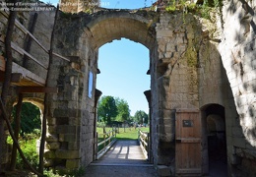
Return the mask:
[[142, 132], [141, 130], [139, 130], [138, 141], [146, 158], [149, 158], [149, 140], [150, 134], [148, 132]]

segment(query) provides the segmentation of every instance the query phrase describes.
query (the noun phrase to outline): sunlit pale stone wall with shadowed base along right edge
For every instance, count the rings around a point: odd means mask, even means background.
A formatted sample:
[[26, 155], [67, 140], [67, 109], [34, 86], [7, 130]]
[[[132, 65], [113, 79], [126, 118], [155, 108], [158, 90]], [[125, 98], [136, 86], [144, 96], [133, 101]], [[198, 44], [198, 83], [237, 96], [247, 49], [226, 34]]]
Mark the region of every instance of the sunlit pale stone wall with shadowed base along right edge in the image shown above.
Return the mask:
[[222, 12], [219, 51], [238, 113], [226, 127], [229, 169], [237, 176], [255, 176], [255, 169], [248, 164], [256, 160], [256, 4], [224, 1]]

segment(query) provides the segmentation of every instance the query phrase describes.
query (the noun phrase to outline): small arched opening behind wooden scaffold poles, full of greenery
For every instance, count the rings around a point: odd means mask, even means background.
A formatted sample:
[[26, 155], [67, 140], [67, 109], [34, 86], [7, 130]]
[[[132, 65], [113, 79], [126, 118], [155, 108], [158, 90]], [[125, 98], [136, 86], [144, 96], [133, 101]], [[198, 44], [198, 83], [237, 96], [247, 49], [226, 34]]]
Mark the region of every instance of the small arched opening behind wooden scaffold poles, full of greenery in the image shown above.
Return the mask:
[[[18, 138], [20, 148], [22, 148], [32, 166], [36, 167], [39, 160], [38, 141], [41, 133], [42, 111], [40, 103], [25, 99], [22, 103], [20, 121], [17, 121], [17, 116], [17, 104], [15, 104], [12, 111], [12, 127], [14, 130], [20, 128]], [[17, 169], [26, 169], [27, 165], [22, 160], [20, 153], [17, 150], [14, 151], [15, 148], [12, 146], [12, 142], [12, 139], [9, 138], [8, 144], [12, 147], [12, 152], [10, 151], [10, 155], [12, 155], [11, 166]], [[16, 159], [14, 155], [17, 155]]]

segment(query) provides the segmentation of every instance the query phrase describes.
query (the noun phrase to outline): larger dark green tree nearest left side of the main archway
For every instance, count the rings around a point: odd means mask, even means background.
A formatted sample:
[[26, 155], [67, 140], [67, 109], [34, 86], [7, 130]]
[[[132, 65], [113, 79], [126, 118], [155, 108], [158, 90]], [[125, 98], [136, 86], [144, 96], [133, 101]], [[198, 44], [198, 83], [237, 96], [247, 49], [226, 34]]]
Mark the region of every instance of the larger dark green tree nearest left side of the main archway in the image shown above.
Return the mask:
[[106, 124], [111, 123], [111, 119], [116, 117], [117, 107], [113, 96], [102, 96], [97, 108], [97, 116], [103, 119]]

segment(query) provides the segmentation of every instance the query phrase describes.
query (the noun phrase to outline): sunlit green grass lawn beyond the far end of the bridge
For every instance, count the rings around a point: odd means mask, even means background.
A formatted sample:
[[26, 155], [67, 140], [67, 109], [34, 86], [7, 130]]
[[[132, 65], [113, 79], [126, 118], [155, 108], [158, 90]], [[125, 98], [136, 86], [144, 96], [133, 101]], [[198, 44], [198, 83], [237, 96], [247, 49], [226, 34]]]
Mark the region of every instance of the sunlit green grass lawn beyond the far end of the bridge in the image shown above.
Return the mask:
[[[108, 132], [112, 130], [112, 128], [106, 128], [105, 131]], [[149, 127], [140, 127], [140, 128], [119, 128], [119, 133], [116, 134], [117, 140], [137, 140], [138, 139], [138, 131], [141, 130], [143, 132], [149, 132]], [[102, 128], [96, 128], [96, 132], [98, 134], [98, 138], [100, 138], [100, 134], [103, 133]]]

